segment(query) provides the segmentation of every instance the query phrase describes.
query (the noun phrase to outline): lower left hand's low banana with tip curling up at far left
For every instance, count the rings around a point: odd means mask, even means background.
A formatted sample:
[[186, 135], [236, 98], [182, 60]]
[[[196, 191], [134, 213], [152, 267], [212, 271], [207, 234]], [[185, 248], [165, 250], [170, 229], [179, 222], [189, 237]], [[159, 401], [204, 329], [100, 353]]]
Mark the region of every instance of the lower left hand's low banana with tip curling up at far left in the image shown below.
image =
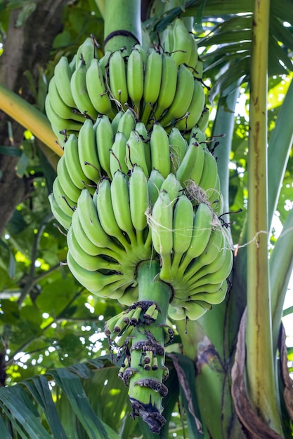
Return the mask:
[[[106, 285], [114, 284], [117, 281], [122, 281], [122, 275], [110, 272], [109, 274], [104, 274], [100, 271], [89, 271], [83, 269], [77, 262], [75, 262], [74, 258], [67, 252], [67, 265], [70, 271], [72, 272], [74, 278], [81, 283], [84, 288], [92, 292], [93, 294], [98, 295], [98, 293], [103, 290]], [[114, 289], [114, 288], [113, 288]]]

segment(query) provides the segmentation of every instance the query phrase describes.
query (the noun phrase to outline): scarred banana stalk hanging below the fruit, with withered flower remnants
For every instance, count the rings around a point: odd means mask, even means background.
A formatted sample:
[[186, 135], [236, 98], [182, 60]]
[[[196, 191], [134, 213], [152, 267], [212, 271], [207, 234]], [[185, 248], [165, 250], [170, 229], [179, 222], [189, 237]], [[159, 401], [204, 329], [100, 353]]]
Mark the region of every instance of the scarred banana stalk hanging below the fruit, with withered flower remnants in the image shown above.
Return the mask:
[[[162, 398], [168, 389], [162, 381], [169, 372], [164, 365], [164, 346], [171, 342], [173, 334], [166, 325], [171, 289], [159, 280], [158, 273], [157, 259], [138, 265], [138, 302], [116, 319], [117, 332], [122, 327], [122, 318], [124, 328], [126, 325], [117, 345], [118, 356], [124, 356], [119, 377], [129, 386], [131, 417], [140, 416], [153, 433], [159, 433], [166, 422], [162, 416]], [[109, 321], [105, 327], [110, 339], [111, 326]]]

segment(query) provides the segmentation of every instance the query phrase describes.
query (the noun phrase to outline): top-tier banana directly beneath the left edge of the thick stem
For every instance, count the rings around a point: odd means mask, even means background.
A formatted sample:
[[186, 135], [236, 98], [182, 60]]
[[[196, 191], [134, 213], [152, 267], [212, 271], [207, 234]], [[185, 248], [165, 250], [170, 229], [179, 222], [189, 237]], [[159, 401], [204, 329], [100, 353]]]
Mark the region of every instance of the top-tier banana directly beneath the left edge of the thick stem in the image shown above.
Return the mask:
[[109, 58], [109, 83], [111, 95], [119, 109], [124, 108], [128, 100], [126, 66], [121, 50], [115, 50]]

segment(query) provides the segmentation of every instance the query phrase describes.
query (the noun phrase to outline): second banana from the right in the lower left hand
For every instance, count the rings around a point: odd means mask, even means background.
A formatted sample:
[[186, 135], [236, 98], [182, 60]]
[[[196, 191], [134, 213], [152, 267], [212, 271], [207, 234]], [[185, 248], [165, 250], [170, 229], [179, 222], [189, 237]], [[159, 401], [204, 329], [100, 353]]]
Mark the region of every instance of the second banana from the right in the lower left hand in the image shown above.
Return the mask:
[[119, 229], [129, 236], [131, 245], [135, 245], [136, 236], [131, 219], [129, 184], [126, 175], [117, 170], [113, 176], [110, 188], [112, 208], [117, 225]]

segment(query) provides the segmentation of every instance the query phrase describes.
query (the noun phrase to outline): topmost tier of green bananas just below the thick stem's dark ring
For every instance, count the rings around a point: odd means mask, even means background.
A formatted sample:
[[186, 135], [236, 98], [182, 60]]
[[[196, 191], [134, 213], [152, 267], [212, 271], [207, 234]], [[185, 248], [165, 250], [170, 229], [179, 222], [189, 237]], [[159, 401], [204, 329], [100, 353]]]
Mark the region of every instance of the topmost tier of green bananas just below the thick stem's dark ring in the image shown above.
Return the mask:
[[104, 114], [112, 121], [128, 108], [148, 128], [155, 120], [169, 130], [188, 131], [200, 121], [205, 93], [196, 41], [180, 18], [168, 35], [173, 42], [166, 49], [136, 44], [130, 53], [107, 52], [100, 60], [91, 36], [72, 62], [60, 58], [48, 86], [46, 114], [62, 145], [63, 133], [78, 136], [85, 119], [95, 123]]

